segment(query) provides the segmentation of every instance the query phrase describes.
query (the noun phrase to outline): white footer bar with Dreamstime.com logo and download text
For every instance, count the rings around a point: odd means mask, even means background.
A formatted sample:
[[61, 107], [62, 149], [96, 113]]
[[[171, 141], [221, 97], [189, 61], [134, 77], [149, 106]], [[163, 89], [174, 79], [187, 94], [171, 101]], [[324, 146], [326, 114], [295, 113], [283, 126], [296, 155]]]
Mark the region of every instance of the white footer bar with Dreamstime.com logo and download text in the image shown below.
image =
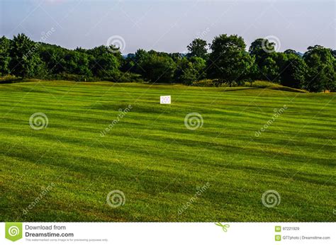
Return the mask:
[[333, 222], [0, 223], [0, 244], [336, 244]]

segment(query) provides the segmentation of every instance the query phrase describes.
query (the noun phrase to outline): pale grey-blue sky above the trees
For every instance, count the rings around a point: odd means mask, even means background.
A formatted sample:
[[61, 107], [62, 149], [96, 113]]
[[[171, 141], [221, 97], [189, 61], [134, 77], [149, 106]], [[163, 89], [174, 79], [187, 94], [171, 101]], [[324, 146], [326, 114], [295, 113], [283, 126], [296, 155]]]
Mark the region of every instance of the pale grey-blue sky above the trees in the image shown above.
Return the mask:
[[[67, 48], [108, 42], [123, 53], [138, 48], [185, 52], [196, 37], [241, 35], [247, 47], [271, 36], [280, 51], [310, 45], [335, 49], [335, 1], [325, 0], [0, 0], [0, 35], [26, 33]], [[113, 37], [113, 38], [111, 38]]]

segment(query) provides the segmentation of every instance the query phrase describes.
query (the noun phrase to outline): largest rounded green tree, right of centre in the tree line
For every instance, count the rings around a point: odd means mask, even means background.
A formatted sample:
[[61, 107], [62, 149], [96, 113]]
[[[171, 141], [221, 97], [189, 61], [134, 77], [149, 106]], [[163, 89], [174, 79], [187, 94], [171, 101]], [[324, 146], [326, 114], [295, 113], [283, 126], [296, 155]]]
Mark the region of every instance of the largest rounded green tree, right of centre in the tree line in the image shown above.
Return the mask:
[[215, 85], [232, 86], [250, 73], [254, 59], [245, 51], [245, 42], [237, 35], [219, 35], [211, 44], [208, 74]]

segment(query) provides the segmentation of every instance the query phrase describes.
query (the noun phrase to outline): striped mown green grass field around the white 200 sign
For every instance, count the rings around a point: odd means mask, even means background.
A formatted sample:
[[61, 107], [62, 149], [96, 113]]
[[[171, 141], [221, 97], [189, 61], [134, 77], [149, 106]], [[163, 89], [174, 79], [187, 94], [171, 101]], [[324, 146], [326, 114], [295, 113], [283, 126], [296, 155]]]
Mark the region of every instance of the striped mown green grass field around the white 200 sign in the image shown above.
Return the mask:
[[[335, 93], [35, 81], [0, 97], [0, 221], [335, 220]], [[188, 113], [203, 126], [187, 129]]]

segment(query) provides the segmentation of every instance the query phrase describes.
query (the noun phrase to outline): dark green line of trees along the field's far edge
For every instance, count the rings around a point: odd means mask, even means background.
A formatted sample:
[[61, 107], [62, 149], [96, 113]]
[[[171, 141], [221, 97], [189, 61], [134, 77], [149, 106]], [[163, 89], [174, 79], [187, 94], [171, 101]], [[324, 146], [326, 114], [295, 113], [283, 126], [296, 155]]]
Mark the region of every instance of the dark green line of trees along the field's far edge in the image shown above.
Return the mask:
[[24, 34], [0, 38], [0, 76], [72, 81], [149, 81], [191, 85], [209, 79], [213, 86], [271, 81], [311, 92], [336, 90], [336, 50], [320, 45], [306, 53], [276, 52], [276, 44], [254, 40], [248, 51], [238, 35], [218, 35], [211, 44], [196, 38], [187, 53], [139, 49], [123, 57], [118, 47], [77, 47], [34, 42]]

